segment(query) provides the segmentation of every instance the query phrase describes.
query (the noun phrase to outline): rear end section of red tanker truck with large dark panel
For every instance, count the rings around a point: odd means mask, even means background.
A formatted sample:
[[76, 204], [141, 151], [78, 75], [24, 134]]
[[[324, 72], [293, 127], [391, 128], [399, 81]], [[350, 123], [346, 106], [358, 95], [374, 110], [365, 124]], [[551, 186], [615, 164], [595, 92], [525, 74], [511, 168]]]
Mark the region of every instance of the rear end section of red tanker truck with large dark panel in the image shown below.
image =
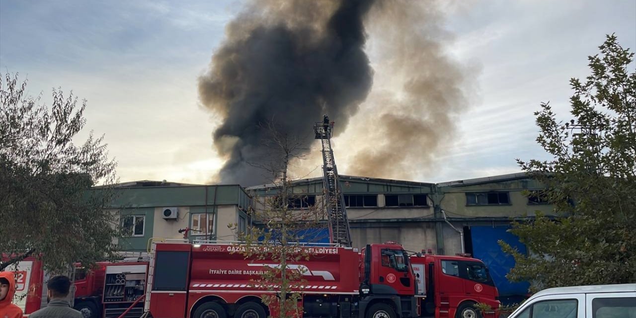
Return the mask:
[[155, 318], [183, 318], [188, 309], [190, 244], [156, 245], [150, 291], [150, 313]]

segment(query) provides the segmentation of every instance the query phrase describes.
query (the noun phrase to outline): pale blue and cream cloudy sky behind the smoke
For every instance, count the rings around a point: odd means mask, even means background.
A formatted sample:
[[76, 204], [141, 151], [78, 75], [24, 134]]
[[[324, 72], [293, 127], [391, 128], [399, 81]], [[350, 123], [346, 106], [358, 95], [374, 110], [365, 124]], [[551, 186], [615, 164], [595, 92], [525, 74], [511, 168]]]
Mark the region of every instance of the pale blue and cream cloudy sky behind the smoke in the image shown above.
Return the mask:
[[[467, 108], [452, 141], [436, 150], [431, 167], [415, 167], [411, 181], [520, 172], [515, 158], [549, 158], [535, 141], [539, 104], [550, 102], [559, 118], [569, 119], [569, 79], [588, 74], [587, 57], [605, 34], [636, 48], [633, 0], [438, 3], [445, 51], [468, 73]], [[29, 93], [42, 94], [46, 104], [54, 87], [86, 99], [87, 123], [77, 140], [90, 130], [104, 134], [120, 181], [210, 183], [224, 162], [211, 137], [221, 118], [200, 106], [197, 78], [244, 5], [0, 0], [0, 69], [27, 78]], [[373, 60], [369, 36], [372, 65], [381, 63]], [[364, 114], [364, 103], [360, 109], [347, 130], [377, 120]], [[347, 139], [347, 130], [334, 140], [341, 174], [356, 164], [350, 149], [373, 143]], [[320, 164], [314, 152], [310, 166]]]

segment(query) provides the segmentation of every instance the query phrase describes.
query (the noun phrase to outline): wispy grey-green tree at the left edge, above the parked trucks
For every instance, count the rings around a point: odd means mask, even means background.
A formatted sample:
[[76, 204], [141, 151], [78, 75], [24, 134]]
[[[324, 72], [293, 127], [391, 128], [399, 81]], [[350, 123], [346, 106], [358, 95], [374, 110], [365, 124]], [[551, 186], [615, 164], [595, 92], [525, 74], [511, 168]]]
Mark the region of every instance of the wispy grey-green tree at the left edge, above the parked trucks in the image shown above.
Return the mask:
[[41, 95], [25, 97], [27, 81], [0, 77], [0, 270], [28, 256], [62, 272], [112, 254], [119, 228], [103, 209], [115, 181], [103, 137], [74, 144], [86, 120], [86, 101], [53, 90], [50, 107]]

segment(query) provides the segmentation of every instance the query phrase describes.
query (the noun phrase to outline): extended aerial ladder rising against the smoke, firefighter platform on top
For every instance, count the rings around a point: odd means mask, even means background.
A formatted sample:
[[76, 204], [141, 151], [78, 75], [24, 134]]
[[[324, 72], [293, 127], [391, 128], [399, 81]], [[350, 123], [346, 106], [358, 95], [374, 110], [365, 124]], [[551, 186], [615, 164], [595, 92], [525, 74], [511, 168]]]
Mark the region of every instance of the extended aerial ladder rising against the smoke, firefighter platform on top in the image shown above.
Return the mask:
[[351, 247], [349, 219], [347, 219], [347, 209], [345, 209], [344, 204], [345, 197], [340, 190], [338, 169], [336, 169], [333, 149], [331, 149], [332, 131], [333, 122], [329, 122], [327, 115], [324, 115], [322, 121], [318, 121], [314, 125], [315, 139], [320, 139], [322, 143], [322, 186], [329, 222], [329, 236], [332, 244]]

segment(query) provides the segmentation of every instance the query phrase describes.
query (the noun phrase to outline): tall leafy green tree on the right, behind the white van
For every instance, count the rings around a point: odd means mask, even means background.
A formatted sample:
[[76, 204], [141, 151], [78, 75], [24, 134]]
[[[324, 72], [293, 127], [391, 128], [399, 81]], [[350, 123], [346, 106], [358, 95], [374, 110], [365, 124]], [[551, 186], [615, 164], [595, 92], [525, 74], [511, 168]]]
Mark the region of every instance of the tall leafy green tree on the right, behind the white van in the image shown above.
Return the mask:
[[572, 119], [558, 120], [548, 103], [535, 113], [537, 142], [553, 158], [517, 160], [555, 206], [556, 218], [513, 224], [530, 255], [500, 242], [516, 261], [508, 278], [532, 290], [636, 281], [634, 53], [613, 34], [599, 49], [588, 57], [591, 74], [570, 79]]

